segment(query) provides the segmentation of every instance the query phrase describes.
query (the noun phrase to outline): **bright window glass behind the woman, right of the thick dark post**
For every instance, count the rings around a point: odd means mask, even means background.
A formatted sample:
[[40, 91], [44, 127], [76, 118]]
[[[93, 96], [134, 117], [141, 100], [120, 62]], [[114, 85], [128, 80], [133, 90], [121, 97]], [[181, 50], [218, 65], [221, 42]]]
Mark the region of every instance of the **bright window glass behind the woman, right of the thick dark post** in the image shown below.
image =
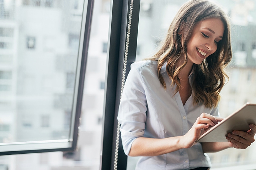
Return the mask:
[[[178, 9], [187, 0], [141, 0], [136, 61], [151, 57], [165, 37]], [[256, 103], [256, 1], [213, 0], [231, 19], [233, 59], [227, 68], [229, 82], [221, 94], [219, 112], [227, 117], [246, 102]], [[224, 166], [255, 164], [256, 143], [245, 150], [226, 149], [208, 154], [213, 170]], [[127, 170], [134, 170], [139, 157], [128, 157]]]

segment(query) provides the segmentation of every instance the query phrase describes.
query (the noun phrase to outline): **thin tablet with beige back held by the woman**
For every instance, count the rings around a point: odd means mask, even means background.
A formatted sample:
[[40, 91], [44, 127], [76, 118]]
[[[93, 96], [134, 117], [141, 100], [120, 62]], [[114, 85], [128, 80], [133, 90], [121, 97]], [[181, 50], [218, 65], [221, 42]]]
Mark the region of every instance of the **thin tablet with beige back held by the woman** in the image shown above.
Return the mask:
[[247, 132], [250, 130], [249, 124], [256, 125], [256, 104], [246, 103], [201, 135], [196, 142], [226, 142], [228, 133], [233, 130]]

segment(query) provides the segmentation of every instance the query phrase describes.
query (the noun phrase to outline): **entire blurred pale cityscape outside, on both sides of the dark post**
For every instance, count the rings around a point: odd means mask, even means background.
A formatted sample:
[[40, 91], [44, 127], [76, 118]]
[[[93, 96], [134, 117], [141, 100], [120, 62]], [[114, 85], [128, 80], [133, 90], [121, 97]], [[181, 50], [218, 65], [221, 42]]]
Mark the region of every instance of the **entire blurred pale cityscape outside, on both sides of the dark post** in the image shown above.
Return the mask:
[[[154, 54], [186, 0], [141, 0], [136, 60]], [[232, 23], [233, 60], [220, 114], [256, 103], [256, 1], [215, 0]], [[83, 0], [0, 0], [0, 142], [69, 135]], [[87, 3], [87, 1], [85, 1]], [[78, 149], [0, 156], [0, 170], [98, 170], [110, 0], [96, 0]], [[213, 168], [256, 164], [256, 145], [208, 154]], [[128, 158], [133, 170], [138, 158]], [[239, 169], [241, 170], [241, 168]]]

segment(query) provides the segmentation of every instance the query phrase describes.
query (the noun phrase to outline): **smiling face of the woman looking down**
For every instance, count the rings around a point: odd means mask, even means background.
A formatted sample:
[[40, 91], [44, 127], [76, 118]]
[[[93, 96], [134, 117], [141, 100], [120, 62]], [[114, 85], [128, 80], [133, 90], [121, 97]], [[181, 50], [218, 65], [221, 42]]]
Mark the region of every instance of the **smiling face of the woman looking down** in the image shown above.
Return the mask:
[[217, 50], [223, 33], [224, 24], [219, 18], [208, 18], [197, 22], [187, 44], [188, 62], [201, 64], [206, 57]]

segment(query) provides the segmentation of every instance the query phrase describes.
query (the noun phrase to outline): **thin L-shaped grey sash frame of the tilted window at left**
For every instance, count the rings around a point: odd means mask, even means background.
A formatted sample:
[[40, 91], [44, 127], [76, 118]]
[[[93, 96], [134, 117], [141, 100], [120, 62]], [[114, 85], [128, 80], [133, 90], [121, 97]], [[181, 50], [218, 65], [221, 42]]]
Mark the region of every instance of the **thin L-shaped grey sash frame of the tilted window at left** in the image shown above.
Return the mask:
[[[89, 49], [90, 31], [94, 0], [84, 0], [82, 23], [80, 30], [80, 43], [76, 69], [75, 89], [73, 96], [73, 111], [70, 124], [70, 139], [0, 143], [0, 155], [41, 153], [55, 151], [75, 151], [77, 147], [79, 125], [81, 121], [82, 95], [84, 90], [85, 70]], [[86, 10], [86, 11], [85, 11]], [[81, 62], [80, 62], [81, 61]]]

